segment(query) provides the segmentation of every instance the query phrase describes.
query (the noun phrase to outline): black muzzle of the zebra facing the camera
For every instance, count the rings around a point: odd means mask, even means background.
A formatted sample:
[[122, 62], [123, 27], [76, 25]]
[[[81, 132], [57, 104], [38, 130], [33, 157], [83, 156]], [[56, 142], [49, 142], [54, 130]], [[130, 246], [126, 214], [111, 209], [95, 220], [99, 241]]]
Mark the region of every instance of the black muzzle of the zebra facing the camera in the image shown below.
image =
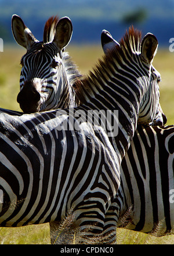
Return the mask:
[[34, 84], [28, 82], [24, 84], [24, 87], [17, 95], [17, 102], [25, 113], [37, 112], [40, 99], [41, 95], [36, 90]]

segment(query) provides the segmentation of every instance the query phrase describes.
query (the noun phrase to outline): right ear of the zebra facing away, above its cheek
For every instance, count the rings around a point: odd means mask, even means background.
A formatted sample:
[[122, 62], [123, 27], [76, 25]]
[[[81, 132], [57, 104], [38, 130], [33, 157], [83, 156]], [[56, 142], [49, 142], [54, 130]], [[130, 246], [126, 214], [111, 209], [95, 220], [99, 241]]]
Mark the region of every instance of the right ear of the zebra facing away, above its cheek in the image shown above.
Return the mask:
[[143, 38], [142, 46], [141, 46], [143, 59], [147, 63], [150, 64], [153, 61], [154, 56], [157, 52], [157, 48], [158, 48], [157, 38], [155, 37], [155, 35], [151, 33], [147, 33]]

